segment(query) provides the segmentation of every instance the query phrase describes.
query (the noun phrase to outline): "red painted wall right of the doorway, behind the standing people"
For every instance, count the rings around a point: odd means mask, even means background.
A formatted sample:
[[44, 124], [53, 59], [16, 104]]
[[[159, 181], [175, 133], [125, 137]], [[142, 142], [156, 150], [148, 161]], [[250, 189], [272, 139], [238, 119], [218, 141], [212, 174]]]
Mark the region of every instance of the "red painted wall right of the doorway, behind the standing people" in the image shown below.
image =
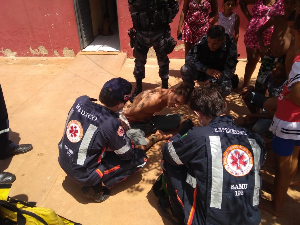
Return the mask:
[[[222, 7], [223, 0], [219, 0], [219, 11], [223, 12]], [[176, 37], [179, 17], [183, 6], [183, 0], [179, 0], [179, 13], [173, 19], [173, 22], [170, 24], [171, 26], [171, 35]], [[249, 11], [251, 12], [252, 7], [249, 7]], [[239, 59], [246, 58], [246, 48], [244, 46], [244, 34], [248, 25], [248, 21], [244, 14], [241, 12], [239, 5], [234, 9], [240, 16], [240, 35], [238, 39], [238, 53], [240, 53]], [[120, 47], [121, 51], [127, 52], [127, 56], [129, 58], [133, 58], [132, 49], [129, 46], [129, 37], [127, 35], [127, 30], [132, 27], [131, 16], [128, 10], [128, 0], [118, 0], [118, 17], [119, 17], [119, 33], [120, 33]], [[182, 49], [180, 49], [182, 44]], [[177, 48], [169, 54], [169, 58], [184, 58], [184, 46], [183, 41], [177, 41]], [[178, 49], [179, 48], [179, 49]], [[176, 50], [177, 49], [177, 50]]]

